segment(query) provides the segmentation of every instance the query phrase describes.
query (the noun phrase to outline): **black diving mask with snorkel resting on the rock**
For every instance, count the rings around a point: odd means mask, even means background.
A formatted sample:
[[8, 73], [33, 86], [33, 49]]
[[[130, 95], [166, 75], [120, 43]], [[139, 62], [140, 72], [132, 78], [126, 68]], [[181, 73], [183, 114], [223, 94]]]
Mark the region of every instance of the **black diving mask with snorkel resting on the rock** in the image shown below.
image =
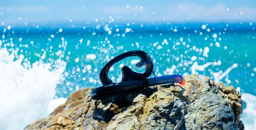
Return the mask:
[[[111, 66], [113, 66], [113, 64], [117, 63], [118, 61], [131, 56], [137, 56], [140, 58], [140, 61], [136, 64], [136, 67], [140, 68], [145, 66], [145, 72], [134, 72], [128, 66], [123, 66], [121, 82], [113, 83], [113, 81], [108, 76], [108, 72]], [[181, 75], [166, 75], [161, 77], [148, 78], [150, 77], [151, 73], [154, 74], [153, 69], [153, 60], [151, 59], [151, 56], [144, 51], [129, 51], [118, 55], [102, 68], [99, 79], [103, 86], [93, 89], [93, 91], [91, 91], [90, 97], [93, 100], [102, 100], [108, 95], [118, 94], [136, 88], [146, 88], [148, 86], [156, 86], [166, 83], [178, 83], [180, 86], [182, 86], [185, 83], [185, 79]]]

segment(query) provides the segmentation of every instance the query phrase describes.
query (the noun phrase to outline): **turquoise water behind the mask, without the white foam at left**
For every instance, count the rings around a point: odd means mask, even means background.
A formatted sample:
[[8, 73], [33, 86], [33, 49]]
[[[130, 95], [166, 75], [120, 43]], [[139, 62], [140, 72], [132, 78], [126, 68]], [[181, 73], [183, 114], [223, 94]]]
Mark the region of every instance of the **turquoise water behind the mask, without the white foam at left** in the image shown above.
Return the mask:
[[[173, 74], [187, 75], [192, 73], [191, 67], [196, 61], [198, 65], [221, 61], [221, 64], [216, 66], [209, 65], [204, 70], [195, 71], [214, 80], [211, 72], [220, 70], [224, 72], [233, 64], [238, 64], [238, 67], [232, 69], [221, 81], [226, 85], [240, 87], [245, 93], [256, 95], [256, 88], [253, 85], [256, 80], [254, 76], [256, 69], [253, 70], [256, 67], [256, 32], [253, 25], [247, 24], [246, 27], [241, 28], [233, 25], [236, 29], [225, 25], [208, 25], [209, 32], [207, 28], [200, 28], [201, 25], [196, 27], [198, 29], [194, 26], [186, 29], [189, 25], [187, 27], [179, 25], [177, 32], [175, 27], [142, 28], [134, 25], [120, 27], [119, 32], [113, 27], [111, 34], [103, 28], [101, 30], [63, 28], [62, 32], [58, 32], [58, 28], [41, 30], [12, 28], [3, 33], [4, 42], [1, 47], [23, 50], [18, 53], [23, 54], [30, 62], [41, 59], [40, 56], [44, 51], [45, 63], [55, 62], [58, 58], [66, 61], [65, 80], [56, 88], [57, 97], [67, 97], [78, 88], [101, 86], [99, 72], [102, 67], [111, 58], [131, 50], [143, 50], [149, 53], [155, 61], [158, 76], [168, 74], [166, 69], [172, 68], [173, 65], [175, 66]], [[131, 31], [126, 32], [125, 28], [131, 28]], [[214, 37], [215, 34], [217, 38]], [[8, 44], [11, 41], [13, 45]], [[215, 45], [216, 42], [220, 47]], [[205, 47], [209, 48], [208, 57], [203, 55]], [[58, 55], [59, 50], [62, 56]], [[96, 57], [88, 56], [89, 54], [95, 54]], [[76, 62], [76, 59], [79, 61]], [[115, 68], [114, 71], [120, 72], [119, 70], [120, 68]], [[114, 77], [117, 78], [118, 74]]]

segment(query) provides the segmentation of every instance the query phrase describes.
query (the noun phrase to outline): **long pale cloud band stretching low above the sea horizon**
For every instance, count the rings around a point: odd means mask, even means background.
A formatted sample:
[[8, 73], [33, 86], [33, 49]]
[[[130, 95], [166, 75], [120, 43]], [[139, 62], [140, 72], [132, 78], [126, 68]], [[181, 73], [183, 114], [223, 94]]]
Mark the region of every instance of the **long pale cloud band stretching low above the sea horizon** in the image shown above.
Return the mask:
[[[225, 4], [195, 4], [190, 2], [168, 3], [150, 6], [119, 5], [108, 6], [9, 6], [4, 7], [0, 22], [73, 22], [109, 20], [115, 22], [256, 22], [256, 8], [249, 6], [232, 6]], [[51, 16], [51, 17], [49, 17]], [[19, 20], [18, 17], [22, 17]], [[25, 19], [26, 18], [26, 19]]]

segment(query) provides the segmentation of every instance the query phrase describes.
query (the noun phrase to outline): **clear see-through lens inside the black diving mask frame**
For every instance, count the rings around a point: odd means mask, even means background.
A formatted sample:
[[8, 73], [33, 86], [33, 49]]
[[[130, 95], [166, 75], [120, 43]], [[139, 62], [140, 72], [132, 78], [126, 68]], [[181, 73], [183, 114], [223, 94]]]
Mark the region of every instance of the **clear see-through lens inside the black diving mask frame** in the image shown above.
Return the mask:
[[113, 83], [119, 83], [122, 80], [122, 67], [128, 66], [133, 72], [143, 74], [146, 70], [145, 62], [138, 56], [127, 57], [116, 62], [110, 67], [108, 77]]

